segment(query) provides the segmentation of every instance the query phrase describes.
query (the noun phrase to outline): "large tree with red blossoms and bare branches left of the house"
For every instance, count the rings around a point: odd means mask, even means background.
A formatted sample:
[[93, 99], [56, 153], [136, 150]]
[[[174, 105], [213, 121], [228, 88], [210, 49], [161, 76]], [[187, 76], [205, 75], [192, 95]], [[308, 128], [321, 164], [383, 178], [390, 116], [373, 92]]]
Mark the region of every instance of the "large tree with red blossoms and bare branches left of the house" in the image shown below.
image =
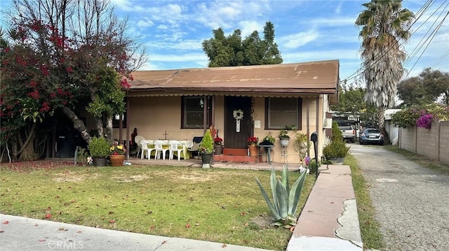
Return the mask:
[[145, 62], [144, 48], [113, 12], [102, 0], [13, 0], [11, 29], [0, 38], [0, 110], [1, 144], [11, 145], [14, 160], [39, 158], [36, 128], [56, 111], [89, 142], [79, 119], [86, 110], [111, 140], [130, 72]]

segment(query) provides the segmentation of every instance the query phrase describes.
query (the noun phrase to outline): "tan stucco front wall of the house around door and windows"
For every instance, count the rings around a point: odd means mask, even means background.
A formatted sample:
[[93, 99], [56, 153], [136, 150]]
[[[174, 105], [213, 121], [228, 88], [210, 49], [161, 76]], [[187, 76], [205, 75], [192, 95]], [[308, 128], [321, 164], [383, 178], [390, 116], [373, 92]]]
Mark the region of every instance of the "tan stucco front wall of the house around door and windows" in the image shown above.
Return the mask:
[[[194, 136], [203, 136], [203, 129], [181, 129], [181, 96], [151, 96], [151, 97], [131, 97], [130, 113], [128, 113], [128, 120], [130, 124], [129, 134], [133, 133], [133, 129], [138, 129], [138, 134], [147, 139], [165, 138], [167, 133], [168, 139], [178, 140], [192, 140]], [[269, 135], [276, 138], [274, 148], [274, 162], [284, 162], [281, 156], [281, 145], [279, 143], [280, 130], [265, 130], [264, 109], [265, 99], [263, 97], [254, 98], [254, 113], [253, 119], [260, 120], [260, 128], [254, 129], [254, 135], [260, 141], [264, 136]], [[301, 134], [307, 134], [307, 102], [309, 103], [309, 134], [314, 131], [319, 136], [319, 157], [323, 148], [323, 97], [319, 99], [319, 127], [316, 127], [316, 98], [302, 99], [302, 129], [297, 131]], [[226, 141], [225, 135], [225, 96], [215, 96], [215, 129], [218, 130], [221, 138]], [[289, 131], [290, 143], [287, 147], [288, 163], [299, 164], [299, 153], [295, 151], [295, 131]], [[119, 138], [119, 129], [114, 129], [114, 138]], [[310, 138], [310, 135], [308, 135]], [[123, 140], [126, 139], [126, 129], [123, 129]], [[314, 157], [313, 146], [310, 149], [310, 156]]]

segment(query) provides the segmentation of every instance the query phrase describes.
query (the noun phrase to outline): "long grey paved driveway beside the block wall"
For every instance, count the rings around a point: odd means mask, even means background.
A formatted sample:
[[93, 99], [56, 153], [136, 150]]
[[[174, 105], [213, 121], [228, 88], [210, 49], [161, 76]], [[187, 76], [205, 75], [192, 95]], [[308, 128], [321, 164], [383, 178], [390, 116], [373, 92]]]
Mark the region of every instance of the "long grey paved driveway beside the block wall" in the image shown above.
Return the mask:
[[380, 146], [349, 145], [369, 187], [384, 250], [449, 250], [449, 176]]

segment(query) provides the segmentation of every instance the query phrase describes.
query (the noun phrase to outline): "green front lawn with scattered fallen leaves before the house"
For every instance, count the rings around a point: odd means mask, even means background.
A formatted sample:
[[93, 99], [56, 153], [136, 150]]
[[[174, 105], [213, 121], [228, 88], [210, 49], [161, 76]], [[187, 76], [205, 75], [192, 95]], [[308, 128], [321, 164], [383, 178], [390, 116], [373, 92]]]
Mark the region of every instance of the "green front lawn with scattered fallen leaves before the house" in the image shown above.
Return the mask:
[[[1, 165], [1, 213], [271, 250], [290, 240], [288, 229], [269, 226], [254, 180], [269, 189], [269, 171], [49, 163]], [[314, 181], [307, 176], [298, 211]]]

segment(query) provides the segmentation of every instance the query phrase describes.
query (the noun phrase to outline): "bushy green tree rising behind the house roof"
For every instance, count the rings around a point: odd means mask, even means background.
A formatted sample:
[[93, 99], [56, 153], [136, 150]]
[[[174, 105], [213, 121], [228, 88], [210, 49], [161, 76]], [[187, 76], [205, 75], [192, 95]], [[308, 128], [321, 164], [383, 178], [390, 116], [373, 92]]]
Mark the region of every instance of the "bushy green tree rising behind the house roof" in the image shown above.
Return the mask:
[[248, 66], [260, 64], [281, 64], [282, 57], [278, 45], [274, 43], [274, 25], [266, 22], [264, 26], [264, 39], [257, 31], [243, 41], [241, 30], [225, 36], [220, 27], [213, 29], [213, 38], [203, 41], [203, 52], [209, 58], [209, 67], [220, 66]]

